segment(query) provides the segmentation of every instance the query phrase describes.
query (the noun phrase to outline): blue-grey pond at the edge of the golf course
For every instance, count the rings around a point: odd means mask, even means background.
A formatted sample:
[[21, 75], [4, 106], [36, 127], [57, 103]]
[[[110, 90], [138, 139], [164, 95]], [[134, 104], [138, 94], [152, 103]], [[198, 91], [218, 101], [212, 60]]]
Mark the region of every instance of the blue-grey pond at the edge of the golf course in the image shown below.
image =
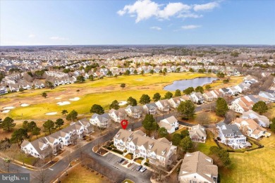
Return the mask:
[[180, 89], [183, 91], [183, 89], [187, 89], [188, 87], [198, 87], [202, 86], [204, 84], [212, 83], [214, 80], [217, 80], [215, 77], [200, 77], [195, 78], [191, 80], [178, 80], [174, 81], [172, 84], [167, 85], [164, 87], [165, 90], [168, 91], [175, 91], [176, 89]]

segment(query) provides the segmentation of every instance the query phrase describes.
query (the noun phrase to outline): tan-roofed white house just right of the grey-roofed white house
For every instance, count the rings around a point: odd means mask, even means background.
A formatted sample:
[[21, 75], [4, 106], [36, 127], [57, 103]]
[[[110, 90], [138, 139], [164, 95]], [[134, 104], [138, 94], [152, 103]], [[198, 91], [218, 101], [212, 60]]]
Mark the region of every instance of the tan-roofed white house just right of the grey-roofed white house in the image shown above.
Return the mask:
[[243, 132], [243, 134], [254, 139], [259, 139], [260, 137], [265, 136], [265, 132], [267, 132], [267, 130], [265, 130], [263, 127], [260, 127], [257, 122], [252, 119], [236, 118], [232, 124], [237, 125], [240, 129], [240, 132]]

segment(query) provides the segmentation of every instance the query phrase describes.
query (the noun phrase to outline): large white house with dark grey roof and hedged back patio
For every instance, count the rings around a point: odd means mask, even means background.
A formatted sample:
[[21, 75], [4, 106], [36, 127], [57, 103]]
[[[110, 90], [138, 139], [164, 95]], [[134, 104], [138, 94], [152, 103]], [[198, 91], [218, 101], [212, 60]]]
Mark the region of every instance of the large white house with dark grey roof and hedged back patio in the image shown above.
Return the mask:
[[237, 125], [226, 125], [224, 122], [219, 122], [216, 128], [219, 130], [221, 143], [231, 146], [233, 149], [251, 146], [251, 144], [246, 141], [246, 137], [240, 132]]

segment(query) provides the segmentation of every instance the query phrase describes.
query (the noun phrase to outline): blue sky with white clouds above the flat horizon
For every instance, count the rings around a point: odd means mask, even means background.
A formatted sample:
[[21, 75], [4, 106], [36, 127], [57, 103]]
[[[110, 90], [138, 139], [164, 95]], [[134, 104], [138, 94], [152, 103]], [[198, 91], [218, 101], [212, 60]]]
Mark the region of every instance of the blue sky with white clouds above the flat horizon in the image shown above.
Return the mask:
[[275, 44], [275, 1], [0, 1], [0, 45]]

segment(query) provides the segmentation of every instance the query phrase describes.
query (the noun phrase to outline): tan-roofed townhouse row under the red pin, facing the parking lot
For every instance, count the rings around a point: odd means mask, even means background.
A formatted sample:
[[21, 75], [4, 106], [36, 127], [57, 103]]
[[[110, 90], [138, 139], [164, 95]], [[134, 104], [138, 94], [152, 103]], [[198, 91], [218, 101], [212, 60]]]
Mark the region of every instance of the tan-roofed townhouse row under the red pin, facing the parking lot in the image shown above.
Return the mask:
[[166, 138], [154, 139], [147, 137], [141, 130], [119, 130], [114, 136], [114, 146], [120, 151], [126, 150], [133, 153], [135, 157], [149, 159], [149, 163], [154, 165], [171, 165], [173, 154], [176, 153], [176, 146]]

